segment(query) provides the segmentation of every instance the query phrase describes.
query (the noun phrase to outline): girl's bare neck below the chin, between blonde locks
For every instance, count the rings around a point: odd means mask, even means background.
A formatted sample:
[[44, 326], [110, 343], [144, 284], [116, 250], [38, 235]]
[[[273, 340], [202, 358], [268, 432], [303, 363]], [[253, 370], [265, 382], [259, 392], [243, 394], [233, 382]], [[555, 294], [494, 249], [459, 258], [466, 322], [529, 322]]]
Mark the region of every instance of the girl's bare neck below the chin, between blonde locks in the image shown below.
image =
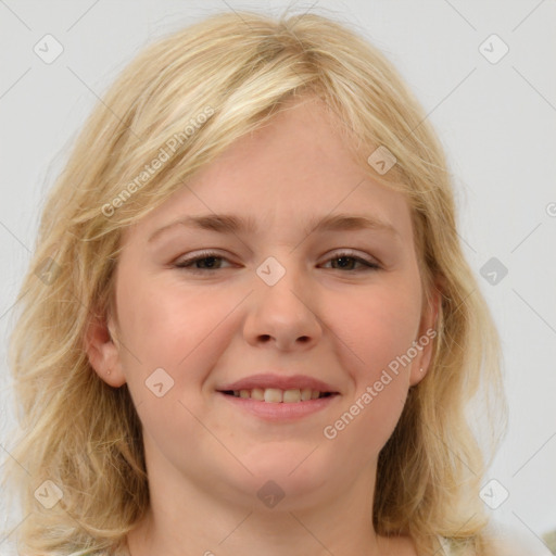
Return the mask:
[[131, 556], [387, 554], [372, 527], [376, 465], [328, 496], [289, 493], [273, 508], [242, 493], [215, 496], [214, 488], [166, 471], [151, 478], [150, 508], [128, 535]]

